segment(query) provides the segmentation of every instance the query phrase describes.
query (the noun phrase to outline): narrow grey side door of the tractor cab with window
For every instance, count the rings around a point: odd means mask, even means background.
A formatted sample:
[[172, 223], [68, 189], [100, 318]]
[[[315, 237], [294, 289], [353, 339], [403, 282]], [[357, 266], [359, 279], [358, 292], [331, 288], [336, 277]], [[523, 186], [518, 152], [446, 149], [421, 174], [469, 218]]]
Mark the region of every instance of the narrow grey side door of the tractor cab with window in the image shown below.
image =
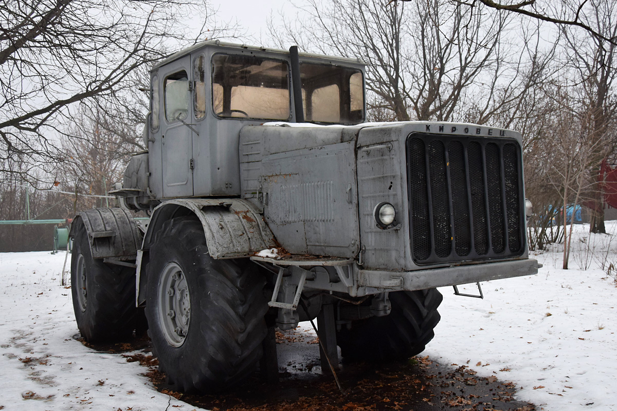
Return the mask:
[[193, 195], [190, 62], [187, 55], [159, 72], [163, 91], [161, 157], [165, 198]]

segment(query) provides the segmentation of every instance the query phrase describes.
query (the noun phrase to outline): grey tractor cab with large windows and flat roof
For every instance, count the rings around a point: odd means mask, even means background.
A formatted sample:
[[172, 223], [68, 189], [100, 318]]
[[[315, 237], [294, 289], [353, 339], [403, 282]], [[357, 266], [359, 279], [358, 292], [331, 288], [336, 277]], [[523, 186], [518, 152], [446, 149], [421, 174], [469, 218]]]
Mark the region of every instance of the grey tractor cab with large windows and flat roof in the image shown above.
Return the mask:
[[298, 60], [301, 116], [288, 51], [206, 41], [152, 68], [148, 153], [131, 161], [142, 171], [148, 161], [149, 182], [135, 187], [139, 171], [129, 166], [123, 185], [125, 193], [141, 194], [133, 208], [162, 198], [239, 195], [239, 132], [246, 125], [365, 120], [363, 63], [312, 54]]

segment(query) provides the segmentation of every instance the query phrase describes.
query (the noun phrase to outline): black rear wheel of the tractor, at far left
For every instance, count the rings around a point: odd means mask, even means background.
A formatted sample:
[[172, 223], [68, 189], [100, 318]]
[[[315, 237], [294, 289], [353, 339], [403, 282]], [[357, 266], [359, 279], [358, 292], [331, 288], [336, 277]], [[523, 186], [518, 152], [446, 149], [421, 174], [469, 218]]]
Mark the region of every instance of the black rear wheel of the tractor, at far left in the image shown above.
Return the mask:
[[73, 224], [71, 293], [77, 327], [88, 343], [123, 341], [135, 329], [135, 269], [93, 259], [83, 221]]

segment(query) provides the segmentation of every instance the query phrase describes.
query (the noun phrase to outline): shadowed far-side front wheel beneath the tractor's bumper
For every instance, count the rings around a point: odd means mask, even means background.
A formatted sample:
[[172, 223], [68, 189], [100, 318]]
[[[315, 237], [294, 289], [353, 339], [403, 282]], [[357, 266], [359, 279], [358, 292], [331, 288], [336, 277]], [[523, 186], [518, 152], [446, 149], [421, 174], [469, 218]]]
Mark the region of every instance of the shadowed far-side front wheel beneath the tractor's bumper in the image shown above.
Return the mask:
[[443, 299], [436, 288], [390, 293], [392, 311], [384, 317], [355, 320], [337, 332], [337, 344], [346, 360], [389, 362], [420, 354], [433, 340]]

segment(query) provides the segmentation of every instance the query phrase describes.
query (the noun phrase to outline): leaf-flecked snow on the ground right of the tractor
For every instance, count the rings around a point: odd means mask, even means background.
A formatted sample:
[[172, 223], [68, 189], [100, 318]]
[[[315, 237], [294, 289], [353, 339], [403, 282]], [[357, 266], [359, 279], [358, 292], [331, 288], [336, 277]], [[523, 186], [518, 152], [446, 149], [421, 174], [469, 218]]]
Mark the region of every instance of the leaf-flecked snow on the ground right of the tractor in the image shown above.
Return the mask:
[[[441, 322], [424, 354], [514, 381], [516, 399], [538, 409], [617, 411], [617, 288], [600, 268], [605, 258], [617, 266], [617, 236], [574, 230], [568, 270], [555, 245], [532, 253], [544, 264], [539, 274], [482, 283], [482, 300], [441, 290]], [[607, 232], [616, 231], [607, 222]]]

